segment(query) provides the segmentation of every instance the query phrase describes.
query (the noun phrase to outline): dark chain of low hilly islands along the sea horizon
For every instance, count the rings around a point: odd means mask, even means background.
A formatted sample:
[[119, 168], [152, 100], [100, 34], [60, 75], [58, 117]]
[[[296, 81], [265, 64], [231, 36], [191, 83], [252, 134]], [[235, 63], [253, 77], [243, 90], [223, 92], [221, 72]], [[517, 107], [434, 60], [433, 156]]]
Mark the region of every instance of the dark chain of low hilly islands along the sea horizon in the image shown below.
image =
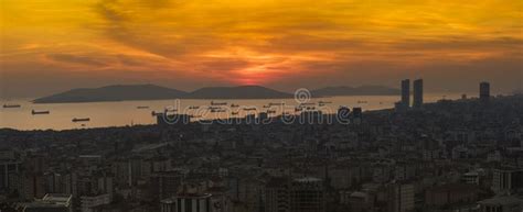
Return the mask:
[[[312, 97], [333, 96], [392, 96], [399, 90], [381, 86], [327, 87], [312, 90]], [[72, 89], [65, 92], [33, 100], [34, 103], [78, 103], [130, 100], [164, 99], [287, 99], [292, 93], [265, 88], [262, 86], [206, 87], [192, 92], [154, 85], [117, 85], [100, 88]]]

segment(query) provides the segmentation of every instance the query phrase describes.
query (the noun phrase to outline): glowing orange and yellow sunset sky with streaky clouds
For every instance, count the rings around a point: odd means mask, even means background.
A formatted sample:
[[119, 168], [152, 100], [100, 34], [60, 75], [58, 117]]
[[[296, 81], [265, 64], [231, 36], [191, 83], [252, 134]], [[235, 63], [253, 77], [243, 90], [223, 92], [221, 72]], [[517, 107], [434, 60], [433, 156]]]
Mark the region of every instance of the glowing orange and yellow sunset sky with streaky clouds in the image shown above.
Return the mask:
[[[472, 3], [473, 2], [473, 3]], [[522, 0], [0, 0], [0, 88], [523, 83]]]

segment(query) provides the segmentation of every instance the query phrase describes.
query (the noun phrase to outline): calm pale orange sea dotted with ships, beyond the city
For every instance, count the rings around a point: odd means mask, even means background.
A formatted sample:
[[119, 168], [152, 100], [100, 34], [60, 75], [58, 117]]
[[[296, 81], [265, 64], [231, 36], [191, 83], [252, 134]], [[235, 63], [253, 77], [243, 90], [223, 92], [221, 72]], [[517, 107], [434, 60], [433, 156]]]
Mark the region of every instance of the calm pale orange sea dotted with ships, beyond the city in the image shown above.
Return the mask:
[[[426, 93], [425, 102], [435, 102], [442, 98], [459, 99], [461, 93]], [[311, 104], [305, 107], [316, 107], [324, 113], [333, 113], [340, 105], [361, 107], [366, 110], [378, 110], [393, 108], [397, 102], [397, 96], [357, 96], [357, 97], [332, 97], [311, 99]], [[319, 102], [325, 103], [319, 107]], [[244, 116], [249, 113], [257, 113], [267, 110], [275, 111], [273, 115], [281, 112], [295, 113], [295, 107], [299, 103], [295, 99], [254, 99], [254, 100], [214, 100], [214, 102], [226, 102], [226, 107], [216, 105], [217, 112], [211, 112], [209, 107], [211, 100], [154, 100], [154, 101], [119, 101], [119, 102], [93, 102], [93, 103], [53, 103], [53, 104], [33, 104], [31, 99], [2, 100], [1, 105], [21, 104], [21, 108], [0, 108], [0, 129], [9, 127], [17, 130], [67, 130], [67, 129], [88, 129], [104, 126], [125, 126], [132, 124], [153, 124], [156, 123], [152, 111], [163, 112], [166, 108], [178, 109], [180, 113], [193, 114], [200, 119], [223, 119], [232, 116], [232, 113], [238, 113], [233, 116]], [[285, 102], [282, 105], [273, 105], [273, 103]], [[314, 104], [312, 104], [314, 103]], [[231, 104], [238, 104], [237, 108], [231, 108]], [[142, 107], [142, 109], [138, 109]], [[198, 110], [190, 110], [190, 107], [200, 107]], [[143, 109], [145, 108], [145, 109]], [[221, 109], [217, 109], [221, 108]], [[244, 110], [245, 108], [256, 108], [254, 110]], [[50, 111], [50, 114], [35, 114], [35, 111]], [[223, 112], [221, 112], [223, 111]], [[89, 122], [73, 122], [73, 119], [89, 118]]]

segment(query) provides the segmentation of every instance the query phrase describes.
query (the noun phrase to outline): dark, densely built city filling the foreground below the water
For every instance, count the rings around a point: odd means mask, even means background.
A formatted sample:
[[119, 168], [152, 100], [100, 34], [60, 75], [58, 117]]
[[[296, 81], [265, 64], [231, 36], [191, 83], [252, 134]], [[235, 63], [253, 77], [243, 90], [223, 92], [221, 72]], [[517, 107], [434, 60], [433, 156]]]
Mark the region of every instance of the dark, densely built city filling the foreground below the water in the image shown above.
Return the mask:
[[482, 94], [423, 110], [0, 130], [0, 210], [520, 212], [523, 96]]

